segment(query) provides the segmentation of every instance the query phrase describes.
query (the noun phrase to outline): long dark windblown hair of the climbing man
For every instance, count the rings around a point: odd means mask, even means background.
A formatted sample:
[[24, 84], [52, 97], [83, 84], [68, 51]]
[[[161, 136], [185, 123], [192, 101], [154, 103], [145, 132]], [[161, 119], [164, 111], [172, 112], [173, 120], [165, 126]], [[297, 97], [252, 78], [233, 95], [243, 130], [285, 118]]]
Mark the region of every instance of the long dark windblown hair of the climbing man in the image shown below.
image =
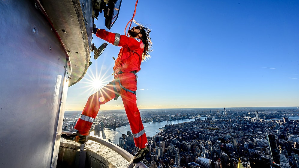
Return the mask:
[[135, 20], [133, 22], [141, 27], [141, 34], [142, 34], [142, 43], [144, 44], [144, 50], [142, 53], [142, 60], [150, 59], [150, 52], [152, 51], [152, 41], [150, 39], [150, 28], [146, 28], [140, 23], [137, 23]]

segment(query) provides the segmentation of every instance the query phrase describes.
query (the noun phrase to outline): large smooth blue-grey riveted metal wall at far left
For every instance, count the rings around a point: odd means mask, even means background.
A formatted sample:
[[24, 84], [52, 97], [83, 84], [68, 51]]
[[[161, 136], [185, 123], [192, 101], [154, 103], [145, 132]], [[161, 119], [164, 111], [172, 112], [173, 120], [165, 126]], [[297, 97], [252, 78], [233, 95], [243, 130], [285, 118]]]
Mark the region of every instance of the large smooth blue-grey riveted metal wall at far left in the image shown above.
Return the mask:
[[0, 9], [0, 167], [55, 168], [68, 55], [35, 1]]

